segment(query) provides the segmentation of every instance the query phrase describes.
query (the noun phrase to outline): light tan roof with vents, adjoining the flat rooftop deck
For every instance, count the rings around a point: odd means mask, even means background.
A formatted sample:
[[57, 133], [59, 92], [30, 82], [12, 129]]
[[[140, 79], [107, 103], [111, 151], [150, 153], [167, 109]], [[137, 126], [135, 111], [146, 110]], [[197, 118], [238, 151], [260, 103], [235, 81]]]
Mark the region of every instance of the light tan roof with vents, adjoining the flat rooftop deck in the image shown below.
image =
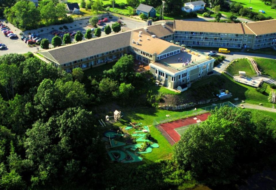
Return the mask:
[[[130, 46], [150, 54], [154, 54], [155, 52], [159, 55], [164, 52], [170, 52], [182, 48], [181, 46], [169, 43], [162, 39], [152, 38], [145, 34], [141, 34], [140, 37], [138, 35], [138, 32], [131, 32], [131, 40], [129, 42]], [[141, 41], [139, 41], [139, 39], [141, 39]], [[134, 40], [135, 43], [133, 43], [132, 40]], [[137, 41], [138, 45], [136, 44]]]

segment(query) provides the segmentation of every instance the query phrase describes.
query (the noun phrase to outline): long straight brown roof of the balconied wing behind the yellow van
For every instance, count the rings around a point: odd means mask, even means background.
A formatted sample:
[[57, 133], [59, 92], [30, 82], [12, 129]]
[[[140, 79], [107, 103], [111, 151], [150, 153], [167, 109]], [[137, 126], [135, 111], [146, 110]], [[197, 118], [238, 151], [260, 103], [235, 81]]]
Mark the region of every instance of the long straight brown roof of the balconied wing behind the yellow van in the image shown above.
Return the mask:
[[175, 20], [175, 31], [244, 34], [241, 23]]

